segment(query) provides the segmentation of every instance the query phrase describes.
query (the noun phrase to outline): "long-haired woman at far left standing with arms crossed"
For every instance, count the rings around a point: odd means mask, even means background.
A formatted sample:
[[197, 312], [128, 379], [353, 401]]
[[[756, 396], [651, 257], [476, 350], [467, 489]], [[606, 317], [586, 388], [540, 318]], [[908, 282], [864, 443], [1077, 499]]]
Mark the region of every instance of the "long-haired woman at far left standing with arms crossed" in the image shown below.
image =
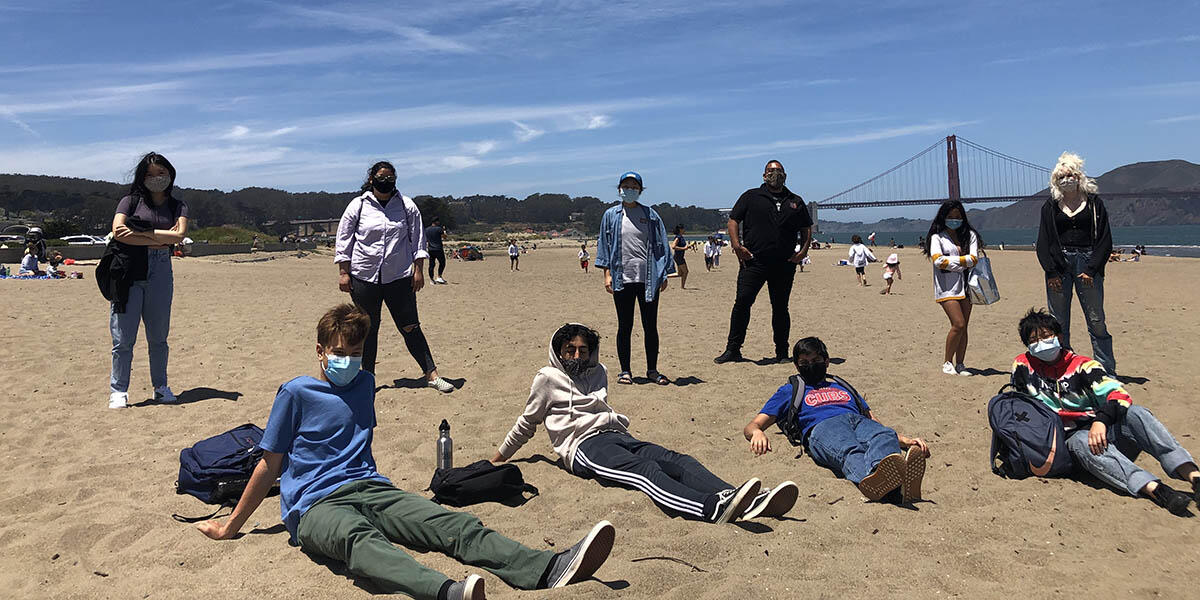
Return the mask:
[[174, 197], [175, 167], [166, 156], [150, 152], [133, 169], [128, 196], [116, 204], [113, 215], [114, 252], [132, 265], [127, 292], [118, 293], [108, 318], [113, 335], [113, 372], [109, 377], [108, 408], [125, 408], [130, 400], [130, 371], [138, 325], [145, 323], [150, 346], [150, 383], [154, 398], [176, 402], [167, 385], [167, 356], [170, 347], [170, 305], [175, 276], [170, 246], [187, 234], [187, 203]]

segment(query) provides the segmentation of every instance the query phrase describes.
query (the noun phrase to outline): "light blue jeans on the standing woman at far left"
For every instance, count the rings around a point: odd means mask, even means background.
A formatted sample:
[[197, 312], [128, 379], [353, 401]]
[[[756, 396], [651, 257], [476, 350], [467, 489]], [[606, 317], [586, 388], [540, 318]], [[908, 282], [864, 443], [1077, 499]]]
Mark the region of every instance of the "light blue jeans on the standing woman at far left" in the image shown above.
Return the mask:
[[130, 370], [133, 367], [133, 342], [138, 326], [146, 324], [146, 344], [150, 347], [150, 383], [167, 385], [167, 335], [170, 332], [170, 301], [175, 294], [175, 276], [170, 269], [169, 250], [148, 250], [146, 280], [130, 286], [130, 301], [125, 312], [108, 317], [113, 334], [113, 391], [130, 391]]

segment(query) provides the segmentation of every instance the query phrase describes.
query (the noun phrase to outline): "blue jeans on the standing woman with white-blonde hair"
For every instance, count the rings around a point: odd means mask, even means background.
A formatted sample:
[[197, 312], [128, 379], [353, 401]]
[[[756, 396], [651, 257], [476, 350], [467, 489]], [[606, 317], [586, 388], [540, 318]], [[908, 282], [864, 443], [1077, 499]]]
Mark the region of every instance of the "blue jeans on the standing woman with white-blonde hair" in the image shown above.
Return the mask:
[[1063, 250], [1067, 258], [1067, 266], [1070, 269], [1067, 276], [1062, 277], [1062, 292], [1054, 292], [1046, 286], [1046, 305], [1050, 314], [1062, 325], [1060, 342], [1064, 348], [1070, 348], [1070, 289], [1075, 288], [1079, 296], [1079, 306], [1084, 310], [1087, 319], [1087, 335], [1092, 338], [1092, 358], [1104, 366], [1109, 374], [1117, 374], [1117, 359], [1112, 355], [1112, 336], [1104, 324], [1104, 277], [1092, 277], [1092, 284], [1085, 286], [1079, 281], [1079, 275], [1087, 272], [1087, 262], [1092, 253], [1082, 250]]

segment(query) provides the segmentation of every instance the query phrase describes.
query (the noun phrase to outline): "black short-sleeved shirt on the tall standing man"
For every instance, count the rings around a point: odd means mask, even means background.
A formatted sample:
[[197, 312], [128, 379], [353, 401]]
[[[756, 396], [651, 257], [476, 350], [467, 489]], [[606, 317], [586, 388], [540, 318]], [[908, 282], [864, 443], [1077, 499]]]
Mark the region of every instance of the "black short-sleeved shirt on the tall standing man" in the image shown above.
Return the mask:
[[812, 227], [804, 199], [787, 187], [778, 196], [767, 184], [746, 190], [730, 212], [742, 224], [742, 245], [755, 258], [786, 260], [796, 253], [796, 236]]

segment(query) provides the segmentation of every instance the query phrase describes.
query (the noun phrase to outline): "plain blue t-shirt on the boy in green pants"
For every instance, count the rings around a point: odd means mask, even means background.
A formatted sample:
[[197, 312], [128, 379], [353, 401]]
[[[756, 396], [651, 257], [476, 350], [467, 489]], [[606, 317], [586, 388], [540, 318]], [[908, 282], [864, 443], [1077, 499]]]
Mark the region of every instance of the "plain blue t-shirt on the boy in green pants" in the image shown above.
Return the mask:
[[371, 455], [374, 426], [374, 376], [367, 371], [344, 388], [308, 376], [280, 386], [259, 448], [286, 455], [280, 512], [293, 540], [305, 511], [334, 490], [364, 479], [390, 482]]

